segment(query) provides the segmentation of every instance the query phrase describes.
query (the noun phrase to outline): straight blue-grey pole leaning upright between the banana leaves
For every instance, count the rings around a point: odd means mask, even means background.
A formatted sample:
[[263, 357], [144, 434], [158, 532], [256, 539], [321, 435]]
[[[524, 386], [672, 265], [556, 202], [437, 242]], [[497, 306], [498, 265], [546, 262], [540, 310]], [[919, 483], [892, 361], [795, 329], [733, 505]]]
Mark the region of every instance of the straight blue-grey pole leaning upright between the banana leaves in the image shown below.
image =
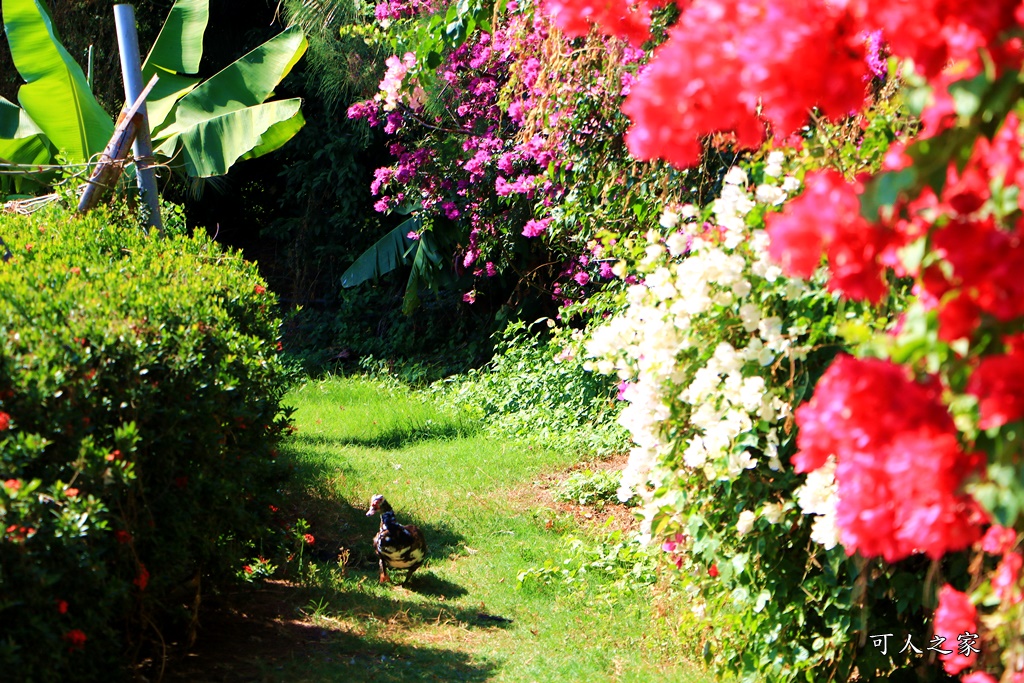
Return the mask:
[[[135, 10], [131, 5], [114, 5], [114, 23], [118, 33], [118, 50], [121, 54], [121, 76], [125, 83], [125, 101], [134, 102], [142, 91], [142, 58], [138, 51], [138, 34], [135, 31]], [[138, 109], [141, 120], [132, 154], [135, 156], [135, 177], [142, 199], [150, 207], [150, 225], [158, 230], [164, 228], [160, 216], [160, 194], [157, 190], [157, 175], [150, 166], [153, 159], [153, 141], [150, 139], [150, 117], [145, 111], [145, 99]]]

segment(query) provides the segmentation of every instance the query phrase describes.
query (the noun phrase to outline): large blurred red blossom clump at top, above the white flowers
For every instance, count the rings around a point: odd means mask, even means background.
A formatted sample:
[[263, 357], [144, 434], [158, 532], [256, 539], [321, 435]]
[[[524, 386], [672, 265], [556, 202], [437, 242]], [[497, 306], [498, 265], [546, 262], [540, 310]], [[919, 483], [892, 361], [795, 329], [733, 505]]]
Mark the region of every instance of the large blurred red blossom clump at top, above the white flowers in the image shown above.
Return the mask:
[[[864, 100], [864, 41], [854, 18], [823, 0], [705, 0], [683, 12], [633, 86], [630, 152], [692, 166], [700, 138], [732, 132], [742, 147], [785, 136], [812, 108], [830, 117]], [[763, 120], [760, 117], [763, 117]]]

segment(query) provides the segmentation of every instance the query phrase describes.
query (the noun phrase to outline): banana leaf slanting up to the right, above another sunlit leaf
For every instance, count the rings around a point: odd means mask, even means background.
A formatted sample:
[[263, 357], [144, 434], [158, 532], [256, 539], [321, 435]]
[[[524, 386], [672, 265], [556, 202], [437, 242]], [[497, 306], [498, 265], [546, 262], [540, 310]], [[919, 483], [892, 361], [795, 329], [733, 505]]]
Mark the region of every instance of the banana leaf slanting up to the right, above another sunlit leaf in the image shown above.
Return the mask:
[[291, 28], [223, 69], [181, 98], [159, 132], [169, 138], [206, 121], [261, 104], [306, 51], [302, 32]]

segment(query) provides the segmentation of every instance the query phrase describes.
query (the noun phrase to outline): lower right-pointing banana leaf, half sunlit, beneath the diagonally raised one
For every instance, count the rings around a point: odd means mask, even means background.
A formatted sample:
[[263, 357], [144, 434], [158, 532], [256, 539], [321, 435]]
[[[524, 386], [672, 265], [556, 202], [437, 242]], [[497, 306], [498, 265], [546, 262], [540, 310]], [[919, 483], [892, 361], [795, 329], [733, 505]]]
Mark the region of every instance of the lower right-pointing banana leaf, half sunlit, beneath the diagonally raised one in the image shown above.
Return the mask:
[[188, 175], [224, 175], [234, 162], [276, 150], [305, 123], [298, 98], [229, 111], [200, 121], [165, 139], [157, 152], [181, 153]]

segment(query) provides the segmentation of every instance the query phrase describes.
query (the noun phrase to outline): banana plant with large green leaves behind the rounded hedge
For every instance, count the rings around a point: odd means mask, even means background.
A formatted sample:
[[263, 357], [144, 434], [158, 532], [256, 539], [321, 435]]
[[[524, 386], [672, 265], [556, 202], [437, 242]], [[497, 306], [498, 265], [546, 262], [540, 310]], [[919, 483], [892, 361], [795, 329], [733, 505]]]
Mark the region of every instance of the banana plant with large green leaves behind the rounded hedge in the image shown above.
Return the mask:
[[[52, 163], [56, 153], [68, 163], [88, 161], [105, 146], [113, 119], [60, 44], [42, 0], [2, 0], [2, 8], [26, 83], [20, 108], [0, 102], [0, 163]], [[276, 150], [305, 123], [299, 98], [265, 101], [305, 52], [301, 31], [279, 34], [200, 83], [208, 22], [209, 0], [177, 0], [142, 66], [145, 80], [160, 76], [146, 99], [154, 150], [196, 178], [223, 175], [238, 161]]]

